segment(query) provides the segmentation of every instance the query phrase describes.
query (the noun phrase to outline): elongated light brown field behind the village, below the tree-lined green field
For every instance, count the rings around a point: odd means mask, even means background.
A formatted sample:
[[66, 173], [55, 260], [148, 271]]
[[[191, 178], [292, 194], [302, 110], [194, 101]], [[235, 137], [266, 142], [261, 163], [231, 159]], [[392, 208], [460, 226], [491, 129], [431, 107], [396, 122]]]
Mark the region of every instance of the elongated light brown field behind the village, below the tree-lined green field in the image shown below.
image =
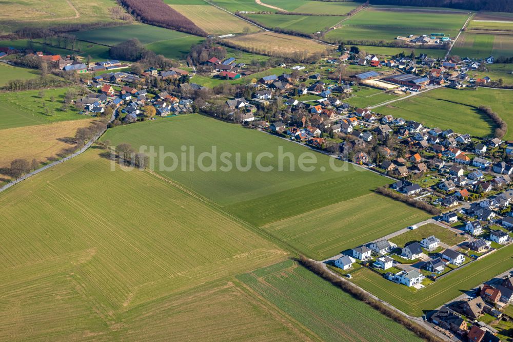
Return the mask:
[[253, 49], [255, 52], [271, 53], [315, 53], [333, 49], [328, 45], [311, 41], [309, 39], [274, 32], [259, 32], [239, 35], [226, 39], [226, 41]]

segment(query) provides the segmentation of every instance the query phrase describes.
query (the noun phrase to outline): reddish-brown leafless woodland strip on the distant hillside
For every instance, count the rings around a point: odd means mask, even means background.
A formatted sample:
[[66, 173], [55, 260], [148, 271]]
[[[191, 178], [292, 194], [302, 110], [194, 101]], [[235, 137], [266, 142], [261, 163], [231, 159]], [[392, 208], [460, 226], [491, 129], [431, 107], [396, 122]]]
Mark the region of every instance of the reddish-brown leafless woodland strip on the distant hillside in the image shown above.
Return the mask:
[[168, 29], [206, 37], [207, 32], [162, 0], [119, 0], [139, 21]]

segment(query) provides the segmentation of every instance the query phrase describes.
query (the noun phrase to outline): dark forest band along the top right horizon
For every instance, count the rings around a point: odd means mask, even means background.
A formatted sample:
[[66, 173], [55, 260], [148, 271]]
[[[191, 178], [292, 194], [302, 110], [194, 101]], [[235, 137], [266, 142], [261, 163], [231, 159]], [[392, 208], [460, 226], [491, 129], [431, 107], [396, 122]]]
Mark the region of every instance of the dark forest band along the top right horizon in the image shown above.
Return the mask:
[[513, 0], [370, 0], [370, 4], [449, 7], [471, 11], [513, 12]]

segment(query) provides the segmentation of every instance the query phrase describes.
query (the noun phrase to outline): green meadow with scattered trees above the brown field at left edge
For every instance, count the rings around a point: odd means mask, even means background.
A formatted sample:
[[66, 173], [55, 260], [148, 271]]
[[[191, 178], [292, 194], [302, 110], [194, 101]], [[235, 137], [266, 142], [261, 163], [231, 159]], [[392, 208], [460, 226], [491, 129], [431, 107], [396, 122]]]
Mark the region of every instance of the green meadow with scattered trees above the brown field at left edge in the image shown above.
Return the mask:
[[[68, 88], [45, 89], [43, 98], [40, 98], [39, 90], [0, 93], [0, 106], [3, 108], [0, 111], [0, 129], [90, 118], [79, 115], [73, 107], [67, 112], [61, 111], [67, 90]], [[46, 112], [47, 108], [49, 114]]]

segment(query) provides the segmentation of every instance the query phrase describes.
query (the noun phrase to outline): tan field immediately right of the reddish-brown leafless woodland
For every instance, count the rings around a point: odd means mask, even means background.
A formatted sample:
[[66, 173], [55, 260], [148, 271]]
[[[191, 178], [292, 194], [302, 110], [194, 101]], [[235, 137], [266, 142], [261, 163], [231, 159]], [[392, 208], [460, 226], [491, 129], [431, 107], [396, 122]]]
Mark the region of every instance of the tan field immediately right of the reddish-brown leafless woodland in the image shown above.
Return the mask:
[[210, 34], [257, 32], [259, 28], [211, 5], [169, 5]]

